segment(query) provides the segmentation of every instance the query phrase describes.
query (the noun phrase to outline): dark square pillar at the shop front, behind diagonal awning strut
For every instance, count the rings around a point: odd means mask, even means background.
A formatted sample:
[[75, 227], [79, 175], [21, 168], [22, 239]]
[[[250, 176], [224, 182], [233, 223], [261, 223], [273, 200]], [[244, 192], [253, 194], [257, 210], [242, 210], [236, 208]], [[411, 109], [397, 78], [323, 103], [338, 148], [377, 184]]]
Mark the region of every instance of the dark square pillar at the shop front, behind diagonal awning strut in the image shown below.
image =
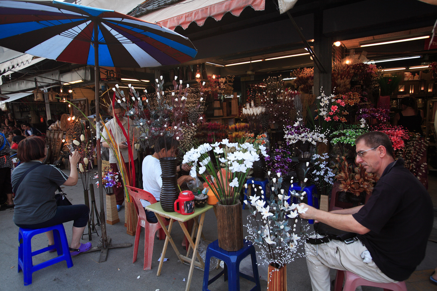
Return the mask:
[[332, 93], [332, 38], [327, 38], [323, 35], [323, 10], [314, 13], [314, 52], [319, 57], [326, 73], [320, 72], [319, 68], [314, 65], [313, 94], [320, 96], [320, 88], [323, 87], [322, 91], [325, 92], [325, 95], [330, 95]]

